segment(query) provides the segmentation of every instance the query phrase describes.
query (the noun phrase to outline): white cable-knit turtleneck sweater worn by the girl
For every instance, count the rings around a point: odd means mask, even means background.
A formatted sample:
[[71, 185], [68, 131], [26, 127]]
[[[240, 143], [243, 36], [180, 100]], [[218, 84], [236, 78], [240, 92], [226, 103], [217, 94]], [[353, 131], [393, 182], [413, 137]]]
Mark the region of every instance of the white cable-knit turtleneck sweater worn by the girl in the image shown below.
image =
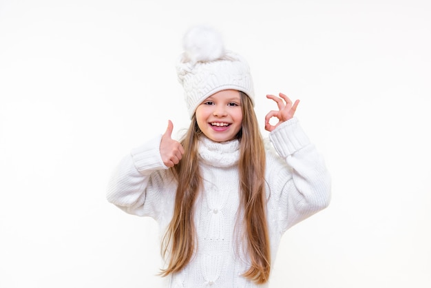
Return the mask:
[[[164, 233], [174, 211], [176, 181], [162, 163], [160, 137], [123, 158], [109, 183], [107, 199], [129, 214], [151, 216]], [[330, 177], [296, 118], [279, 125], [269, 139], [266, 198], [274, 262], [282, 234], [328, 205]], [[198, 249], [183, 271], [166, 278], [166, 287], [268, 287], [241, 276], [250, 262], [238, 240], [242, 233], [239, 142], [215, 143], [202, 137], [199, 154], [204, 189], [196, 203]]]

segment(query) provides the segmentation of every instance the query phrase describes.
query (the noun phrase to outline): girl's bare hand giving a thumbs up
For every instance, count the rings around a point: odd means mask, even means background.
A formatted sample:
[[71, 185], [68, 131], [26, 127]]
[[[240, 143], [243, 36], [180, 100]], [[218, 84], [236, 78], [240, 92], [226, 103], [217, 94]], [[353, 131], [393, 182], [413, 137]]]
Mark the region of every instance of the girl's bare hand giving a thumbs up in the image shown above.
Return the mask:
[[174, 165], [178, 164], [182, 158], [182, 154], [184, 154], [182, 145], [171, 138], [172, 130], [174, 130], [174, 124], [169, 120], [167, 130], [162, 135], [162, 140], [160, 141], [160, 155], [167, 167], [174, 167]]

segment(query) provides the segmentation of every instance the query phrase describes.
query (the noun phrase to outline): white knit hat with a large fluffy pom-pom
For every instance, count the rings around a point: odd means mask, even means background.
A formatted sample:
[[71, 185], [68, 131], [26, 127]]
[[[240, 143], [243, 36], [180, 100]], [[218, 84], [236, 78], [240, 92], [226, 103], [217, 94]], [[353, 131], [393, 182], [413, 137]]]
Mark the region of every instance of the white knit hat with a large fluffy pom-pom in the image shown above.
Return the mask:
[[185, 52], [176, 68], [190, 118], [202, 101], [222, 90], [242, 91], [254, 105], [249, 65], [242, 56], [224, 50], [218, 32], [208, 27], [194, 27], [185, 34], [183, 41]]

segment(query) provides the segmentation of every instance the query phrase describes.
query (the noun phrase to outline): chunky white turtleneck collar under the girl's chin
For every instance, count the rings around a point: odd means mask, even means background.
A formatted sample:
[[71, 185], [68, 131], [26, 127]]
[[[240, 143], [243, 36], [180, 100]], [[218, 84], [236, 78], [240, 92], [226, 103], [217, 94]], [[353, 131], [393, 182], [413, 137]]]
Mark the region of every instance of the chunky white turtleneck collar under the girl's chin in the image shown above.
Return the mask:
[[240, 158], [240, 141], [234, 139], [226, 142], [214, 142], [201, 136], [198, 153], [200, 160], [214, 167], [231, 167], [238, 164]]

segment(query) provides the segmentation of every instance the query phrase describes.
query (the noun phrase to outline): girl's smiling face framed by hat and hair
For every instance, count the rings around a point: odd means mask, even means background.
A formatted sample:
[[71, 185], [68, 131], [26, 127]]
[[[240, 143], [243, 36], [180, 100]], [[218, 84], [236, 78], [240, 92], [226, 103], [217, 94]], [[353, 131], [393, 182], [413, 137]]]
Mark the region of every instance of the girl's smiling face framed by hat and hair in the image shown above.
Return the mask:
[[242, 127], [241, 95], [237, 90], [212, 94], [196, 108], [200, 130], [215, 142], [236, 138]]

